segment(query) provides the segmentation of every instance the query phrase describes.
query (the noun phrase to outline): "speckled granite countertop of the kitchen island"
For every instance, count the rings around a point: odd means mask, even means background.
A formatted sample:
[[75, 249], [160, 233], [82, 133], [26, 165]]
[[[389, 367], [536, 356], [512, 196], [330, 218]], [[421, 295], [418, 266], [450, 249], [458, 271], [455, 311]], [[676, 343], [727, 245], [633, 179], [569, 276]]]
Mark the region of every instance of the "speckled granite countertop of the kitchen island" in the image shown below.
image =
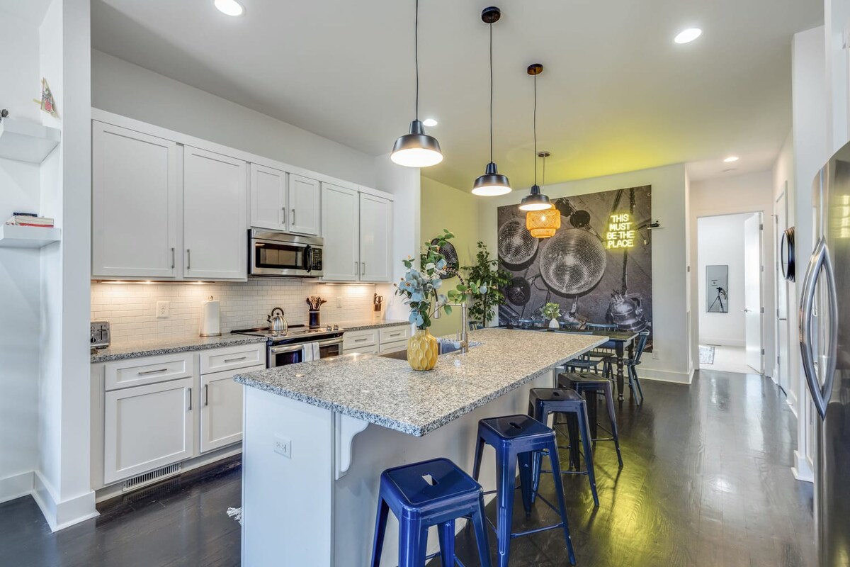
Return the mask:
[[416, 437], [606, 342], [606, 337], [481, 329], [469, 352], [441, 354], [433, 371], [406, 360], [347, 354], [238, 374], [238, 383]]

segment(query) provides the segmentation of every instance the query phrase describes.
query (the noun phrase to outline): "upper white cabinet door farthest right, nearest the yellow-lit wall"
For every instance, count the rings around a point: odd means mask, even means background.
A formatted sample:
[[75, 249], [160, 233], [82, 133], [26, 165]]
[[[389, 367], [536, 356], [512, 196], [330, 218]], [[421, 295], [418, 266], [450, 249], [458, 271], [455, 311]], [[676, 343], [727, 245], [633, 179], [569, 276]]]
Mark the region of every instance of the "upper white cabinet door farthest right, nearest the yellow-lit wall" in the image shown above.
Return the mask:
[[360, 193], [360, 281], [393, 279], [393, 202]]

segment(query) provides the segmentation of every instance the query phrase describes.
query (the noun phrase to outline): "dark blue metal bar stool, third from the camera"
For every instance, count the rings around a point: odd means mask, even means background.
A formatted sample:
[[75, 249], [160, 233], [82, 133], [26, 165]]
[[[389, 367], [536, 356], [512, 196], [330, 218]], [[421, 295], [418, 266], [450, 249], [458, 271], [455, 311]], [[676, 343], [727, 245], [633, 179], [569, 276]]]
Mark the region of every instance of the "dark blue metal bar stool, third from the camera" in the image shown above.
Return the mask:
[[[596, 474], [593, 471], [593, 450], [591, 447], [590, 424], [587, 419], [587, 403], [584, 398], [575, 390], [563, 388], [532, 388], [529, 393], [529, 415], [534, 417], [538, 422], [548, 423], [549, 414], [564, 414], [567, 416], [567, 427], [570, 428], [570, 447], [559, 447], [560, 449], [572, 449], [575, 445], [578, 447], [578, 439], [581, 439], [581, 445], [584, 448], [585, 462], [587, 467], [585, 470], [579, 470], [578, 463], [575, 463], [575, 471], [561, 471], [561, 474], [587, 474], [587, 479], [590, 480], [590, 491], [593, 495], [593, 503], [599, 506], [599, 496], [596, 491]], [[537, 489], [540, 486], [541, 473], [549, 473], [552, 471], [541, 470], [542, 453], [535, 453], [532, 467], [532, 488], [531, 501], [534, 502]]]

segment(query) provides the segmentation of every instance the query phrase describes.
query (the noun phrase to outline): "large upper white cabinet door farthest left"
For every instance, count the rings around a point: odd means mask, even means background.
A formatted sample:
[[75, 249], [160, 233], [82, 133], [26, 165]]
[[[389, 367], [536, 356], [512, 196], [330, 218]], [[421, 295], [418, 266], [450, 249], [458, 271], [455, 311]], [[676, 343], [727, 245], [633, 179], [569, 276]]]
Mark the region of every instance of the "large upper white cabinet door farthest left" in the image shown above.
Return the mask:
[[92, 122], [92, 276], [173, 278], [177, 144]]

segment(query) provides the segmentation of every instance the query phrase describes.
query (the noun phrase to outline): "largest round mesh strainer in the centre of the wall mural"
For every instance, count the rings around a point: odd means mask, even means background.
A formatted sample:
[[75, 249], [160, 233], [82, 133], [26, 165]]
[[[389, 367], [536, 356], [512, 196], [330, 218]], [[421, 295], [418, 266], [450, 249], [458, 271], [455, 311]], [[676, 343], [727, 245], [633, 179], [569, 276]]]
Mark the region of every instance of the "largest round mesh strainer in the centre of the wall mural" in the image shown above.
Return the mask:
[[587, 230], [560, 230], [541, 252], [540, 274], [562, 295], [579, 295], [599, 283], [608, 258], [602, 242]]

